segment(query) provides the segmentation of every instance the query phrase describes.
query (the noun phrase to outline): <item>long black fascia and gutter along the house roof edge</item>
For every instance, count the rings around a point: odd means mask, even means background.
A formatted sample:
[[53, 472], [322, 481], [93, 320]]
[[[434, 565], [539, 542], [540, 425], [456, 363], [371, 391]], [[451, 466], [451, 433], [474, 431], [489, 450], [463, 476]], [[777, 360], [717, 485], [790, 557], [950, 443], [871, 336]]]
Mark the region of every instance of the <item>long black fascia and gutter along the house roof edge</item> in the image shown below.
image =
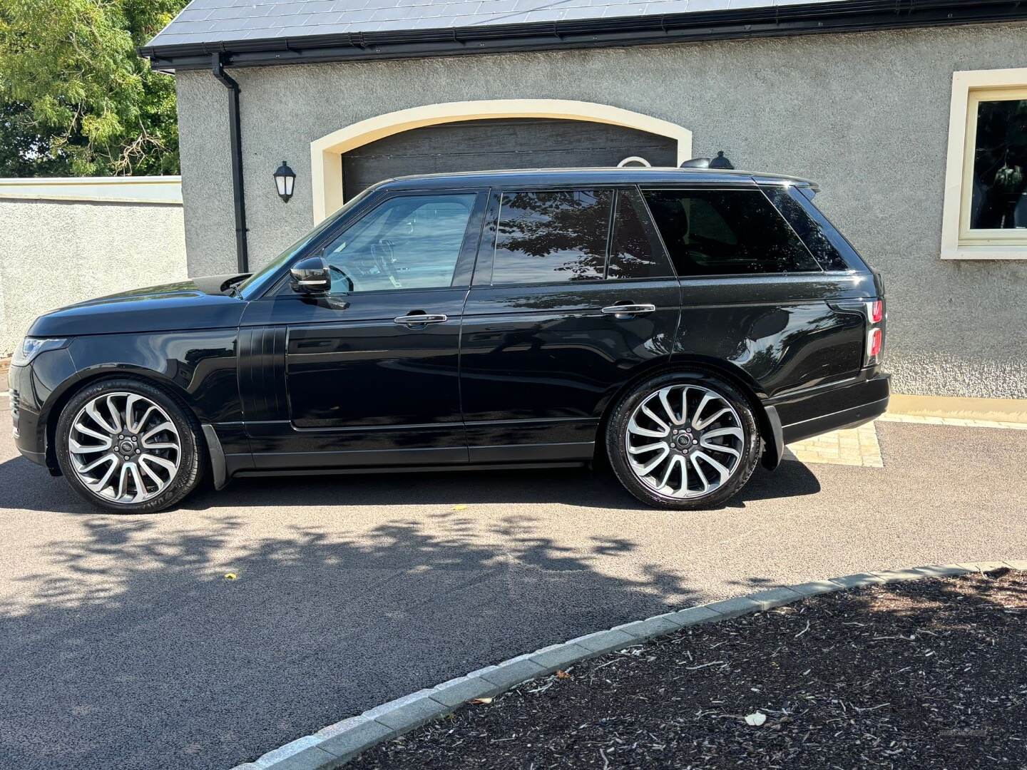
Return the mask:
[[436, 30], [309, 35], [139, 49], [155, 70], [417, 59], [468, 53], [658, 45], [1027, 20], [1027, 0], [839, 0], [809, 5]]

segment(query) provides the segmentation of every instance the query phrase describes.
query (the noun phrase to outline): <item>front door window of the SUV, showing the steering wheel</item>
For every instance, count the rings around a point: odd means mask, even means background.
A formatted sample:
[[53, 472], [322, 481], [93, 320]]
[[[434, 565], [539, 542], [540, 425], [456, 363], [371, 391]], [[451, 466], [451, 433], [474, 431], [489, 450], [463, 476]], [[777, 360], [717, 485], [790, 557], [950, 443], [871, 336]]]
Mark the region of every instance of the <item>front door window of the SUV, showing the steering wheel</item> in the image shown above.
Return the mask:
[[474, 197], [403, 195], [386, 200], [325, 249], [332, 291], [450, 285]]

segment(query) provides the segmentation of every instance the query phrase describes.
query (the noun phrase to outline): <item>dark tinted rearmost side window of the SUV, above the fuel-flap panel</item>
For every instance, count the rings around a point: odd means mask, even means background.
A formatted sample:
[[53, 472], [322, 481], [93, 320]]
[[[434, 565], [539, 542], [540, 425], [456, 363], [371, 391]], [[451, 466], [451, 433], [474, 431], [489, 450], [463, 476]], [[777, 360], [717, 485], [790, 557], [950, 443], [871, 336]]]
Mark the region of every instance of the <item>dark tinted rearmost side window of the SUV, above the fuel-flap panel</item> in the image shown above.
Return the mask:
[[820, 270], [759, 190], [647, 190], [678, 275]]

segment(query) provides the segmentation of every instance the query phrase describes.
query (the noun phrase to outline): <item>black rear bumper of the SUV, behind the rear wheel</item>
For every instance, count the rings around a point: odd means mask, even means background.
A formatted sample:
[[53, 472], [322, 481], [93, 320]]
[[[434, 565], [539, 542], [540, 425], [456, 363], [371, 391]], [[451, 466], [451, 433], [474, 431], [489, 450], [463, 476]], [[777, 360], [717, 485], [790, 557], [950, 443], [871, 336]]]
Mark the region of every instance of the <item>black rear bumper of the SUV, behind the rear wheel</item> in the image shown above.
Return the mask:
[[775, 399], [772, 406], [781, 418], [785, 444], [854, 428], [880, 417], [888, 408], [890, 379], [890, 375], [868, 372], [855, 382]]

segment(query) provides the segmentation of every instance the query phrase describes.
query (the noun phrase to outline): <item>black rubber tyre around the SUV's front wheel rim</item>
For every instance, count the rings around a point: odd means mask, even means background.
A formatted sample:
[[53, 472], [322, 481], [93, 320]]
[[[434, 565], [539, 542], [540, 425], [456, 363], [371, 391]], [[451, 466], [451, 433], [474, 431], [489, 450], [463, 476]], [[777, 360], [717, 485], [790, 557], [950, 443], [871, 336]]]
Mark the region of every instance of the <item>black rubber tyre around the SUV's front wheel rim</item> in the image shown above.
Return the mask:
[[[163, 410], [178, 432], [181, 457], [177, 470], [169, 475], [165, 489], [142, 502], [116, 502], [102, 497], [79, 478], [72, 462], [69, 441], [73, 421], [89, 401], [110, 393], [129, 393], [149, 399]], [[54, 449], [65, 478], [84, 500], [112, 513], [156, 513], [180, 502], [199, 485], [205, 465], [202, 460], [205, 453], [202, 435], [195, 416], [176, 397], [144, 380], [117, 378], [87, 385], [65, 405], [58, 420]]]

